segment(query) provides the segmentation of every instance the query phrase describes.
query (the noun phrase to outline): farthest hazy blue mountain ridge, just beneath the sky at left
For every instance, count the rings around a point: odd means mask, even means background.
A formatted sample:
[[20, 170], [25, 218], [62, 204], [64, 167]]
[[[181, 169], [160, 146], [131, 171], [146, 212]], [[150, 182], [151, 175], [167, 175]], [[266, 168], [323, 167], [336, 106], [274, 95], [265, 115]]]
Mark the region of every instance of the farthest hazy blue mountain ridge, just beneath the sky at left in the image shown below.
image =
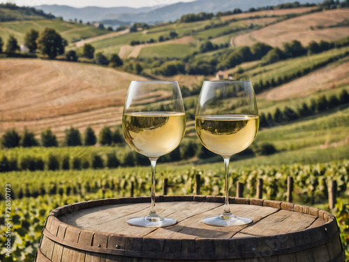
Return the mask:
[[77, 18], [77, 20], [82, 20], [83, 22], [98, 22], [110, 19], [110, 17], [117, 19], [117, 15], [121, 14], [132, 15], [135, 13], [144, 13], [161, 7], [163, 7], [163, 5], [142, 8], [131, 8], [125, 6], [112, 8], [102, 8], [97, 6], [75, 8], [72, 6], [42, 5], [36, 6], [35, 8], [43, 10], [45, 13], [52, 13], [57, 17], [63, 17], [64, 20], [74, 20]]

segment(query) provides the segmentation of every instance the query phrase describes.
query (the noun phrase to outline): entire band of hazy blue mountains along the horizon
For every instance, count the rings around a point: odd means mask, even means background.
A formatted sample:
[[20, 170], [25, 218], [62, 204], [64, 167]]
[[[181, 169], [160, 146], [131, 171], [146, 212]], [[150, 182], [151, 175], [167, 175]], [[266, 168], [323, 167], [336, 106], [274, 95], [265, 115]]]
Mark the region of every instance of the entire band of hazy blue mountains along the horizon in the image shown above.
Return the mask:
[[[320, 3], [323, 0], [299, 0], [299, 3]], [[56, 16], [63, 16], [65, 20], [77, 18], [87, 21], [119, 20], [124, 22], [164, 22], [177, 20], [181, 15], [188, 13], [217, 13], [219, 11], [269, 6], [279, 3], [293, 2], [292, 0], [196, 0], [188, 3], [174, 3], [168, 6], [153, 6], [145, 8], [72, 8], [70, 6], [37, 6], [45, 12]]]

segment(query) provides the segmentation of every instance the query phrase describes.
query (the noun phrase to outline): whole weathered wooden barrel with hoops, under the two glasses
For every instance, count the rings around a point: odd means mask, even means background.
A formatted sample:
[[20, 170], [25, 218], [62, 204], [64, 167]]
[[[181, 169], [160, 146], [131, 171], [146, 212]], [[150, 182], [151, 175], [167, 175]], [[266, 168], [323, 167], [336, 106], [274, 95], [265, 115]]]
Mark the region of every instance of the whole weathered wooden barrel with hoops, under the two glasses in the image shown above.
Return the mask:
[[147, 214], [150, 198], [110, 198], [57, 208], [47, 217], [36, 261], [345, 261], [335, 217], [280, 201], [230, 198], [244, 226], [216, 227], [201, 219], [220, 214], [221, 196], [159, 196], [158, 213], [179, 223], [129, 226]]

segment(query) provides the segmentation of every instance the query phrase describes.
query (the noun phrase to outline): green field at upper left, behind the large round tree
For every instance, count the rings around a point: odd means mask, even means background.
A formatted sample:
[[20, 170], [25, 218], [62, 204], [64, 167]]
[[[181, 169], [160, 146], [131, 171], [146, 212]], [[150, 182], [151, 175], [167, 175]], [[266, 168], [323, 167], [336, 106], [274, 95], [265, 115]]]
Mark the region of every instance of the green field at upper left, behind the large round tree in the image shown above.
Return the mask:
[[8, 36], [13, 34], [19, 43], [24, 42], [24, 34], [30, 29], [41, 31], [45, 27], [52, 27], [61, 33], [61, 36], [66, 38], [68, 43], [78, 41], [82, 38], [89, 38], [92, 36], [99, 36], [107, 34], [110, 31], [106, 29], [98, 29], [94, 26], [86, 24], [79, 24], [75, 22], [62, 22], [59, 19], [54, 20], [30, 20], [30, 21], [15, 21], [15, 22], [1, 22], [0, 23], [0, 37], [4, 42], [7, 41]]

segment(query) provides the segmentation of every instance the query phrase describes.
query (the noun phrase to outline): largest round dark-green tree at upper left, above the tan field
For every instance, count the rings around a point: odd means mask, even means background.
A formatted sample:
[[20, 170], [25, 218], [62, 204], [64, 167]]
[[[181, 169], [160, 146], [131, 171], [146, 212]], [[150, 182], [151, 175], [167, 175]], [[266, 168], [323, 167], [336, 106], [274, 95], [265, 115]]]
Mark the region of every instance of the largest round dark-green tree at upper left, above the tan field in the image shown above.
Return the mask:
[[55, 29], [50, 27], [46, 27], [40, 32], [37, 43], [40, 52], [47, 54], [50, 59], [54, 59], [58, 54], [64, 54], [64, 48], [68, 45], [66, 40]]

